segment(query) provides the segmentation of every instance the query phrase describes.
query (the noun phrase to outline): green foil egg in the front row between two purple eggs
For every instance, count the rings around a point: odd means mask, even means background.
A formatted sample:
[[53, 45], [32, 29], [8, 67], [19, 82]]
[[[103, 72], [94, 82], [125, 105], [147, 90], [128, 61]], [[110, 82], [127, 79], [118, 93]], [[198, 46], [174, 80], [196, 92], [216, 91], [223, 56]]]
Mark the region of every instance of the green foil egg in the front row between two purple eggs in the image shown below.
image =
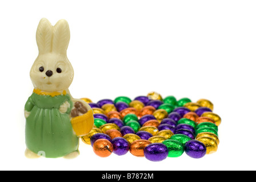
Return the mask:
[[181, 142], [177, 140], [167, 139], [162, 142], [168, 149], [168, 157], [169, 158], [178, 158], [184, 152], [184, 146]]

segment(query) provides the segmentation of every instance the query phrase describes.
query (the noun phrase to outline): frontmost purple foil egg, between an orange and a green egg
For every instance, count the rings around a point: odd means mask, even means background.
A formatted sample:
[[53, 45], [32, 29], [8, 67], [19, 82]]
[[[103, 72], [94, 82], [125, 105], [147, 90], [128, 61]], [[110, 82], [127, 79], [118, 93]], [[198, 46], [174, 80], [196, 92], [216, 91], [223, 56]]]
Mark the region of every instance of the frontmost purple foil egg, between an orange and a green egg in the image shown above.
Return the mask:
[[145, 158], [153, 162], [165, 160], [168, 152], [168, 148], [162, 143], [151, 143], [144, 148]]

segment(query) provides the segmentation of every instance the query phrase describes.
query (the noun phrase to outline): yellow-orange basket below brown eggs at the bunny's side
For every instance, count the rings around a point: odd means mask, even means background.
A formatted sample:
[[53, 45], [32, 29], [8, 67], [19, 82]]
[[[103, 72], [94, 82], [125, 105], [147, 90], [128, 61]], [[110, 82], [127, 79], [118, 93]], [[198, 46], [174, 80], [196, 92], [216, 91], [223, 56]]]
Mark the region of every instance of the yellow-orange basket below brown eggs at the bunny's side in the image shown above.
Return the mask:
[[77, 137], [82, 137], [88, 134], [91, 129], [93, 129], [94, 125], [93, 110], [89, 110], [83, 115], [72, 118], [71, 124], [73, 126], [73, 130], [75, 131], [75, 134], [77, 134]]

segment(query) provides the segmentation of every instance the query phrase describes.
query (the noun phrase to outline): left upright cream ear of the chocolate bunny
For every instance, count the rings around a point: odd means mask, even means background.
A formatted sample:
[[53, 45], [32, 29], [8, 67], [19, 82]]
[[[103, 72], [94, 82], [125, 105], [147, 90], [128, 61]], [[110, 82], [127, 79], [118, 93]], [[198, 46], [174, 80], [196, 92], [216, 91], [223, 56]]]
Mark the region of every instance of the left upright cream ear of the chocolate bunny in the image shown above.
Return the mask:
[[42, 18], [37, 27], [37, 46], [39, 54], [51, 52], [51, 40], [53, 39], [53, 26], [46, 18]]

